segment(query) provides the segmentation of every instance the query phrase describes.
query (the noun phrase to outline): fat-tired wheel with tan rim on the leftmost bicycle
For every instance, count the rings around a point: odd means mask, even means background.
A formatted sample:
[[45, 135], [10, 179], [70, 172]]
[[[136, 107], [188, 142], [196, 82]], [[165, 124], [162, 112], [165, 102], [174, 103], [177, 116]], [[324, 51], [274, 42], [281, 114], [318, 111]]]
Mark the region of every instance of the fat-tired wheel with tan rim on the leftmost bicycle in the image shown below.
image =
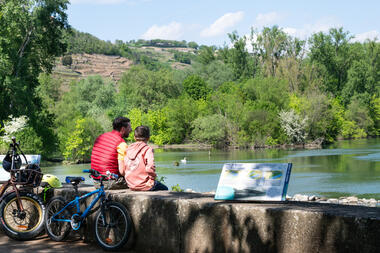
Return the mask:
[[18, 208], [16, 193], [8, 194], [0, 203], [0, 226], [9, 237], [28, 240], [38, 236], [44, 229], [45, 205], [33, 193], [19, 194], [24, 211]]

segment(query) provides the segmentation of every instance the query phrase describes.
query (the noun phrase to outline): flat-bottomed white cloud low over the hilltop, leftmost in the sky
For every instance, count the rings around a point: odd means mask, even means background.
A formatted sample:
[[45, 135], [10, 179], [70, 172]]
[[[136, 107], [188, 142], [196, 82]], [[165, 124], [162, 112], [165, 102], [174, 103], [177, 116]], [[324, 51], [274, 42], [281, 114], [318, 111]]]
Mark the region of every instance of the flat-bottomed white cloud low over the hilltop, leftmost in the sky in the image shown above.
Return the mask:
[[168, 25], [151, 26], [142, 36], [142, 39], [166, 39], [178, 40], [184, 34], [184, 26], [178, 22], [171, 22]]

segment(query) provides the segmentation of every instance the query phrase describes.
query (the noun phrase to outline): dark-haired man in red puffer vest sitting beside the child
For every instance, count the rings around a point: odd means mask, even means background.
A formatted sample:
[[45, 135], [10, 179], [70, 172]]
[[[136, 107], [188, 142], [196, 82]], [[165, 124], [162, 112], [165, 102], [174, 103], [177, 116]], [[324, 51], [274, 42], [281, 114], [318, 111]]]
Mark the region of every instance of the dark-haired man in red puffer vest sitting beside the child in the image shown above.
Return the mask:
[[[132, 131], [131, 122], [128, 118], [118, 117], [112, 123], [113, 130], [96, 138], [91, 154], [91, 168], [106, 175], [107, 171], [120, 176], [120, 169], [124, 169], [124, 156], [127, 138]], [[116, 182], [109, 182], [108, 189], [127, 188], [127, 184], [120, 177]], [[97, 182], [95, 182], [97, 186]]]

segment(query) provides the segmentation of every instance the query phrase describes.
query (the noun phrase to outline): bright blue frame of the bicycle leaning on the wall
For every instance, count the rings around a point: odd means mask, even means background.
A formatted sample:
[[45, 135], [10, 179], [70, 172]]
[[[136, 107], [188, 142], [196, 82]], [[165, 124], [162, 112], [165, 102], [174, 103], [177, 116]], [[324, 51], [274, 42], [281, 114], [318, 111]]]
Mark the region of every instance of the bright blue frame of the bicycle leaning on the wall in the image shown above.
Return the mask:
[[[84, 220], [88, 213], [90, 212], [90, 210], [94, 207], [94, 205], [100, 200], [100, 199], [104, 199], [105, 198], [105, 191], [104, 191], [104, 186], [101, 185], [100, 189], [97, 189], [95, 191], [92, 191], [92, 192], [89, 192], [83, 196], [75, 196], [75, 199], [70, 201], [68, 204], [66, 204], [65, 207], [63, 207], [61, 210], [59, 210], [57, 213], [54, 214], [54, 216], [51, 218], [52, 221], [59, 221], [59, 222], [71, 222], [72, 220], [70, 219], [56, 219], [55, 217], [59, 214], [61, 214], [64, 210], [66, 210], [66, 208], [72, 206], [72, 207], [76, 207], [76, 213], [75, 214], [80, 214], [80, 201], [81, 200], [84, 200], [94, 194], [97, 194], [97, 196], [95, 197], [94, 200], [91, 201], [90, 205], [86, 208], [86, 210], [84, 210], [84, 212], [79, 215], [79, 218], [80, 218], [80, 222], [82, 220]], [[75, 215], [73, 214], [73, 216]], [[74, 228], [73, 227], [73, 230], [78, 230], [80, 228], [80, 225], [77, 227], [77, 228]]]

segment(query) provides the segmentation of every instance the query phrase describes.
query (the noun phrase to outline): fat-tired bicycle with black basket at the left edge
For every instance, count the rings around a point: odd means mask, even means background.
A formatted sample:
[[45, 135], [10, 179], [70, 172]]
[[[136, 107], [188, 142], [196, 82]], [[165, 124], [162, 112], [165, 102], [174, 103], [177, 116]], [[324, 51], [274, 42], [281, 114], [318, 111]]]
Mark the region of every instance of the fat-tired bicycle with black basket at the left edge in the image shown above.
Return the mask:
[[[25, 159], [26, 168], [20, 168], [18, 151]], [[0, 187], [0, 227], [13, 239], [32, 239], [44, 229], [45, 205], [33, 192], [40, 185], [43, 174], [38, 165], [28, 164], [15, 137], [3, 160], [3, 168], [10, 172], [10, 179]]]

